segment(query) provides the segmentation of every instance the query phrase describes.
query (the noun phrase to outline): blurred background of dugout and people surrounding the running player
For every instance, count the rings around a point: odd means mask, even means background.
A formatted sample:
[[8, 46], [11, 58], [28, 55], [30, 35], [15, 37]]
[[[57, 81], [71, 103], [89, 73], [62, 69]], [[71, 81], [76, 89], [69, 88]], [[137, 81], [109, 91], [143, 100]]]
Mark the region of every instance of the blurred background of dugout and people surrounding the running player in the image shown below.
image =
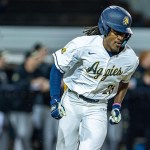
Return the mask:
[[[52, 53], [95, 26], [104, 8], [133, 18], [129, 44], [139, 56], [103, 150], [150, 150], [149, 0], [0, 0], [0, 150], [54, 150], [58, 121], [49, 112]], [[63, 93], [63, 83], [62, 83]], [[111, 103], [108, 110], [111, 110]]]

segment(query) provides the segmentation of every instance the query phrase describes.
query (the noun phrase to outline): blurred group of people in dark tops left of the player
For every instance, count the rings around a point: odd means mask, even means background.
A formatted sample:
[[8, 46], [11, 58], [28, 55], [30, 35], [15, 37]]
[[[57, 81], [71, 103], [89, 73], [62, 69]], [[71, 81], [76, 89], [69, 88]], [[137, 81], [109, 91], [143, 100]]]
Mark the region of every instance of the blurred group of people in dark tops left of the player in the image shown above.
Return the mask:
[[58, 122], [49, 112], [47, 48], [35, 45], [12, 67], [5, 55], [0, 52], [0, 150], [53, 150]]

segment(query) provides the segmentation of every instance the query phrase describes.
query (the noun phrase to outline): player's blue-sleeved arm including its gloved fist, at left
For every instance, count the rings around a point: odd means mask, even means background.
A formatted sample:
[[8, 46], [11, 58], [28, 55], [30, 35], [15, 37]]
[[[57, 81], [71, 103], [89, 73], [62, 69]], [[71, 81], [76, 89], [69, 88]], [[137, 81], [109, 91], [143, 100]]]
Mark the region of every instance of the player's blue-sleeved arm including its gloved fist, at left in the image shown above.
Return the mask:
[[65, 115], [65, 109], [60, 101], [62, 78], [63, 74], [53, 64], [50, 71], [50, 107], [51, 116], [55, 119], [61, 119]]

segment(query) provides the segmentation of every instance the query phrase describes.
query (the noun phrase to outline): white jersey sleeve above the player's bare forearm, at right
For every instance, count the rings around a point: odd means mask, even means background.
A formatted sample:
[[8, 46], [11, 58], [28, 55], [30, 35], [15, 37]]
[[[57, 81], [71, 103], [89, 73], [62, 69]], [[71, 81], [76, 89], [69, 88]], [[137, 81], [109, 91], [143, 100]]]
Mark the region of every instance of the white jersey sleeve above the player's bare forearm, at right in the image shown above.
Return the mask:
[[125, 77], [122, 80], [123, 83], [128, 83], [130, 81], [130, 79], [138, 65], [139, 65], [139, 59], [137, 58], [136, 63], [134, 65], [131, 65], [130, 67], [128, 67], [128, 70], [126, 71], [127, 74], [125, 75]]

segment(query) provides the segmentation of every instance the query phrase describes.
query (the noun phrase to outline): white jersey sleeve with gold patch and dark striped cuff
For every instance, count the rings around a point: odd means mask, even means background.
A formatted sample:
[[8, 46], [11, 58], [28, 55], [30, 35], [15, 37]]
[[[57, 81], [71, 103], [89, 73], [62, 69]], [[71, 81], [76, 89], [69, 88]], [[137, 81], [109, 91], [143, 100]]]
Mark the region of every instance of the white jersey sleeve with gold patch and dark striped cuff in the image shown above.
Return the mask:
[[55, 65], [61, 73], [70, 70], [80, 60], [79, 50], [77, 48], [78, 44], [77, 40], [74, 39], [64, 48], [53, 53]]

